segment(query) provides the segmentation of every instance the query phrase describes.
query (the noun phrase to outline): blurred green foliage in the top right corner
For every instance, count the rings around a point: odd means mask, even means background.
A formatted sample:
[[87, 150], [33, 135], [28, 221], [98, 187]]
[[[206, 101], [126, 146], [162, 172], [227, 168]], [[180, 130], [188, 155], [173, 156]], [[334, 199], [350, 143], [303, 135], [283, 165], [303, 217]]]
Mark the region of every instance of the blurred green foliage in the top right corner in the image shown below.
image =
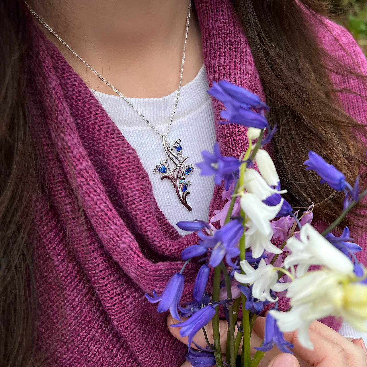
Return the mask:
[[367, 0], [325, 0], [337, 21], [348, 28], [367, 55]]

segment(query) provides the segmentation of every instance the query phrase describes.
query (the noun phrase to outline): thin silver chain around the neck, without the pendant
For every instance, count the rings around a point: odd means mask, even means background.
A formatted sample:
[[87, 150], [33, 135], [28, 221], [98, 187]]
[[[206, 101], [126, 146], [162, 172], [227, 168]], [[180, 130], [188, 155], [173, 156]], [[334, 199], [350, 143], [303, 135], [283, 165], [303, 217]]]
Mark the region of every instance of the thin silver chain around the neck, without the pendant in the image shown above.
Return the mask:
[[[95, 75], [99, 77], [104, 83], [106, 83], [116, 94], [118, 94], [124, 101], [128, 103], [129, 106], [131, 106], [135, 112], [138, 113], [138, 115], [150, 126], [158, 135], [163, 136], [159, 130], [134, 106], [132, 103], [121, 93], [119, 92], [112, 84], [110, 84], [101, 74], [99, 74], [96, 70], [94, 70], [86, 61], [84, 61], [65, 41], [61, 39], [61, 37], [46, 23], [44, 22], [37, 13], [28, 5], [26, 1], [24, 1], [26, 6], [28, 7], [29, 11], [36, 17], [39, 22], [44, 25], [66, 48], [68, 48], [80, 61], [84, 62], [94, 72]], [[168, 124], [168, 129], [165, 135], [168, 134], [168, 131], [170, 131], [170, 127], [172, 124], [173, 117], [176, 112], [178, 99], [180, 98], [181, 93], [181, 81], [182, 81], [182, 73], [183, 73], [183, 64], [185, 63], [185, 52], [186, 52], [186, 40], [187, 40], [187, 34], [189, 31], [189, 21], [190, 21], [190, 11], [191, 11], [191, 0], [189, 0], [189, 10], [187, 12], [187, 18], [186, 18], [186, 30], [185, 30], [185, 45], [183, 46], [183, 52], [182, 52], [182, 60], [181, 60], [181, 72], [180, 72], [180, 82], [178, 85], [178, 91], [177, 91], [177, 97], [175, 100], [175, 104], [173, 106], [173, 110], [170, 117], [170, 123]]]

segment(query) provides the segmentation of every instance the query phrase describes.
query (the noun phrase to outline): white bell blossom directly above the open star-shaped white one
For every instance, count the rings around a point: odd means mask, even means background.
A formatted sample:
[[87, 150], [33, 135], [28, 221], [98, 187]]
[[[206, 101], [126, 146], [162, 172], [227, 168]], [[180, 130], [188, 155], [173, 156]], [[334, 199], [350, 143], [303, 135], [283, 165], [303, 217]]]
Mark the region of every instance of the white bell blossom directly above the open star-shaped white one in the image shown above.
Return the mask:
[[248, 221], [246, 226], [248, 227], [245, 232], [246, 248], [251, 247], [252, 256], [259, 258], [264, 253], [264, 250], [273, 254], [281, 254], [282, 250], [271, 242], [272, 231], [263, 233], [256, 226], [252, 225], [251, 221]]

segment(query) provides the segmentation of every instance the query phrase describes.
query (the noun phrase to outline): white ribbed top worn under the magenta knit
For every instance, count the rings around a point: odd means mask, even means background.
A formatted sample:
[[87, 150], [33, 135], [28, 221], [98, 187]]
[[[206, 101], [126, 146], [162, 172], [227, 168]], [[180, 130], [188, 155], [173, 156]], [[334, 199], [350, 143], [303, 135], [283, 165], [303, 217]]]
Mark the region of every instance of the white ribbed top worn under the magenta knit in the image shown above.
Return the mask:
[[[189, 156], [188, 163], [193, 166], [202, 160], [201, 151], [212, 151], [215, 143], [214, 113], [210, 95], [207, 94], [208, 88], [203, 66], [190, 83], [181, 87], [177, 110], [167, 139], [171, 143], [181, 139], [183, 154]], [[177, 199], [171, 183], [167, 180], [161, 181], [161, 175], [153, 173], [156, 164], [166, 159], [161, 146], [161, 137], [121, 97], [98, 91], [94, 91], [94, 95], [126, 140], [137, 151], [152, 182], [157, 204], [168, 221], [174, 226], [178, 221], [194, 219], [207, 221], [214, 190], [213, 178], [201, 176], [197, 167], [190, 173], [188, 179], [192, 184], [189, 186], [188, 203], [192, 211], [189, 212]], [[177, 91], [161, 98], [129, 98], [129, 100], [162, 134], [165, 134], [176, 95]], [[182, 235], [187, 233], [178, 228], [177, 230]], [[346, 338], [362, 337], [367, 344], [367, 333], [355, 330], [346, 322], [342, 324], [339, 334]]]

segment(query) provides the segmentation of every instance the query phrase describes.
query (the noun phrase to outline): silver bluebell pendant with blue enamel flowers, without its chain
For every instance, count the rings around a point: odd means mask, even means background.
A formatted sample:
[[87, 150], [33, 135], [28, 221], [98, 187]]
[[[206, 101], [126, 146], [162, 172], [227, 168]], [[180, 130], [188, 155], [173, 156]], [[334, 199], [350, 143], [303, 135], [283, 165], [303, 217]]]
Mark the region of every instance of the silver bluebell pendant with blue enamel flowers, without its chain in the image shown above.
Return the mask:
[[[182, 146], [181, 140], [176, 140], [173, 145], [167, 143], [166, 135], [162, 135], [162, 143], [164, 151], [166, 152], [166, 160], [161, 160], [156, 168], [153, 170], [154, 173], [161, 173], [161, 180], [168, 178], [176, 192], [178, 199], [181, 204], [189, 211], [191, 207], [186, 201], [186, 197], [189, 195], [188, 187], [191, 185], [190, 181], [186, 181], [186, 176], [190, 172], [194, 171], [191, 164], [186, 164], [185, 161], [189, 157], [182, 157]], [[185, 164], [184, 164], [185, 163]], [[171, 167], [170, 167], [171, 165]]]

